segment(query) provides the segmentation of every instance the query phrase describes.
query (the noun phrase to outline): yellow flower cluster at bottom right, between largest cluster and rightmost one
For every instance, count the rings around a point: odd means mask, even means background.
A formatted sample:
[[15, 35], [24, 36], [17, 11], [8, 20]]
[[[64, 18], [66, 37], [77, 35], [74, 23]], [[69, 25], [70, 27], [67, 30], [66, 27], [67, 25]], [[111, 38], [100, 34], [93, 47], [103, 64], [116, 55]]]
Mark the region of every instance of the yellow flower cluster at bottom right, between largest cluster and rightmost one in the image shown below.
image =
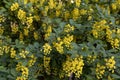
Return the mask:
[[105, 66], [98, 63], [95, 71], [97, 79], [101, 79], [105, 73]]

